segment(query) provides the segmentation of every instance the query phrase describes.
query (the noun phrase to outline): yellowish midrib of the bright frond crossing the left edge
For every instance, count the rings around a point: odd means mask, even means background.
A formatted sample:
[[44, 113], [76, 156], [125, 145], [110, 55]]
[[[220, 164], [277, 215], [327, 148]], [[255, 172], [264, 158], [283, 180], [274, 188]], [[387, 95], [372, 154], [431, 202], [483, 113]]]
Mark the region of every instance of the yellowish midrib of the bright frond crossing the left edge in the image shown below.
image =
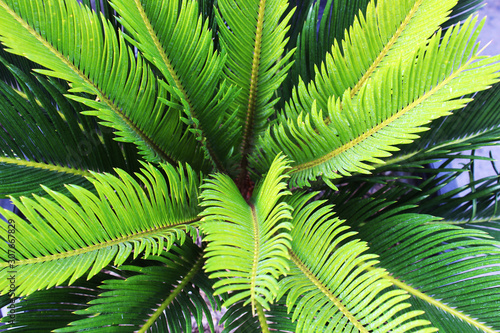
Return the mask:
[[[80, 255], [80, 254], [85, 254], [85, 253], [97, 251], [97, 250], [100, 250], [100, 249], [104, 249], [106, 247], [110, 247], [110, 246], [113, 246], [113, 245], [117, 245], [117, 244], [121, 244], [121, 243], [125, 243], [125, 242], [130, 242], [130, 241], [133, 241], [133, 240], [139, 240], [139, 239], [142, 239], [142, 238], [145, 238], [145, 237], [152, 237], [154, 235], [162, 234], [163, 232], [168, 231], [168, 229], [173, 229], [175, 227], [189, 225], [189, 224], [195, 223], [195, 222], [197, 222], [199, 220], [200, 220], [200, 218], [197, 217], [197, 218], [194, 218], [194, 219], [191, 219], [191, 220], [187, 220], [187, 221], [182, 221], [182, 222], [170, 224], [170, 225], [167, 225], [167, 226], [164, 226], [164, 227], [161, 227], [161, 228], [157, 228], [157, 229], [152, 229], [152, 230], [146, 230], [146, 231], [137, 232], [137, 233], [134, 233], [134, 234], [131, 234], [131, 235], [126, 235], [126, 236], [123, 236], [123, 237], [120, 237], [120, 238], [112, 239], [110, 241], [102, 242], [102, 243], [99, 243], [99, 244], [94, 244], [94, 245], [86, 246], [86, 247], [83, 247], [83, 248], [80, 248], [80, 249], [76, 249], [76, 250], [66, 251], [66, 252], [63, 252], [63, 253], [57, 253], [57, 254], [52, 254], [52, 255], [38, 257], [38, 258], [16, 260], [16, 265], [17, 266], [22, 266], [22, 265], [29, 265], [29, 264], [38, 264], [38, 263], [42, 263], [42, 262], [48, 262], [48, 261], [54, 261], [54, 260], [58, 260], [58, 259], [70, 258], [70, 257], [77, 256], [77, 255]], [[0, 268], [8, 267], [8, 266], [9, 266], [8, 262], [0, 263]]]

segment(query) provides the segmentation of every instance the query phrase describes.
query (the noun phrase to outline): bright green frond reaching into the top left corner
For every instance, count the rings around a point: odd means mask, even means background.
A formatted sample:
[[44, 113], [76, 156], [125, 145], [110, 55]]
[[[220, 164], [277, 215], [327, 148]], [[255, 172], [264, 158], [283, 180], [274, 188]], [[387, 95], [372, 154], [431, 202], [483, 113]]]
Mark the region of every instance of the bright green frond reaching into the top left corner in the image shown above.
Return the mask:
[[180, 111], [160, 101], [170, 92], [109, 21], [76, 1], [0, 1], [0, 28], [10, 52], [48, 68], [39, 73], [70, 82], [68, 97], [95, 109], [86, 114], [114, 128], [118, 140], [135, 143], [149, 161], [201, 168], [203, 153]]

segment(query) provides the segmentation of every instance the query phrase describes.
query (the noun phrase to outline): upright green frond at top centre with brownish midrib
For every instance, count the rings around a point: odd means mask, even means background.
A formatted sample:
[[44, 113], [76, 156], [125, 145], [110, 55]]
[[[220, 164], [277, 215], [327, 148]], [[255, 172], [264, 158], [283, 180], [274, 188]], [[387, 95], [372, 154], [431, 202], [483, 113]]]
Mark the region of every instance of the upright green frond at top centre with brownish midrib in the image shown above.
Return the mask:
[[287, 23], [284, 0], [219, 0], [217, 22], [221, 49], [227, 54], [225, 74], [240, 89], [235, 101], [242, 126], [241, 175], [247, 175], [248, 154], [274, 113], [275, 90], [286, 76], [292, 52], [284, 54]]

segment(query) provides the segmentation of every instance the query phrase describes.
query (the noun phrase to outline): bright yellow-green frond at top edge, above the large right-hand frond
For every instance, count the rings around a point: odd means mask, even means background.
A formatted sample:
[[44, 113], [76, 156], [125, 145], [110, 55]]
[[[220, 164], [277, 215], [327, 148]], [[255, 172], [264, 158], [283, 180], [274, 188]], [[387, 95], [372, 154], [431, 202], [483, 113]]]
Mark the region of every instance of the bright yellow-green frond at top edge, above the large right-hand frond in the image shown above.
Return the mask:
[[[299, 81], [285, 113], [288, 116], [307, 113], [315, 100], [319, 109], [327, 110], [329, 99], [342, 97], [348, 89], [352, 98], [377, 72], [383, 73], [384, 68], [398, 61], [411, 61], [413, 52], [425, 45], [447, 20], [456, 2], [371, 1], [365, 15], [360, 12], [355, 18], [345, 39], [332, 40], [334, 44], [326, 60], [309, 74], [314, 80]], [[322, 24], [326, 25], [326, 21]], [[313, 33], [309, 31], [302, 38], [310, 40]]]

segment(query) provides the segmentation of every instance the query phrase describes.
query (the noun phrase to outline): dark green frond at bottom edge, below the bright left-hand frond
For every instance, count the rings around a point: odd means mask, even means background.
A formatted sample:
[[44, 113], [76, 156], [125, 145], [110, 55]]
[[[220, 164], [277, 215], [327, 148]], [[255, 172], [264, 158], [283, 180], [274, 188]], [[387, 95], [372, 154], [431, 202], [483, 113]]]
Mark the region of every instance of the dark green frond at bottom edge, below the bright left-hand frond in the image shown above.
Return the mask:
[[[208, 279], [201, 268], [201, 249], [187, 240], [168, 253], [149, 257], [140, 266], [123, 265], [126, 279], [105, 280], [98, 297], [88, 307], [75, 313], [86, 318], [70, 323], [55, 332], [112, 330], [113, 332], [191, 332], [191, 316], [203, 329], [203, 315], [213, 331], [210, 310], [201, 295], [209, 292]], [[197, 285], [203, 289], [200, 289]], [[104, 289], [104, 291], [102, 291]], [[217, 297], [209, 298], [215, 308]], [[109, 323], [113, 323], [109, 325]]]

